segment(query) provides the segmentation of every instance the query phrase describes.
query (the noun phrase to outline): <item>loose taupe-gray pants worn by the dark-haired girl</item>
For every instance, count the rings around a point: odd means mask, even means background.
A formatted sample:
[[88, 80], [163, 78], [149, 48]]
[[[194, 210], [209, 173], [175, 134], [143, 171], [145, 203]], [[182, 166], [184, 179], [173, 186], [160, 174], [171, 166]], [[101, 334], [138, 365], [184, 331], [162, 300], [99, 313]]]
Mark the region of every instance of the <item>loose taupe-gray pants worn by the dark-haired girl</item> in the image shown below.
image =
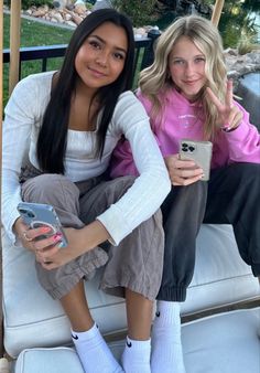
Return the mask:
[[[73, 183], [59, 174], [32, 175], [31, 171], [21, 186], [22, 199], [52, 204], [63, 226], [75, 228], [93, 222], [117, 202], [134, 181], [132, 177], [124, 177], [111, 181], [94, 178]], [[163, 267], [161, 211], [140, 224], [118, 246], [108, 242], [100, 246], [57, 269], [46, 270], [36, 263], [40, 284], [53, 298], [59, 299], [82, 278], [91, 278], [98, 267], [105, 266], [100, 283], [105, 291], [123, 297], [124, 288], [129, 288], [151, 300], [155, 299]]]

